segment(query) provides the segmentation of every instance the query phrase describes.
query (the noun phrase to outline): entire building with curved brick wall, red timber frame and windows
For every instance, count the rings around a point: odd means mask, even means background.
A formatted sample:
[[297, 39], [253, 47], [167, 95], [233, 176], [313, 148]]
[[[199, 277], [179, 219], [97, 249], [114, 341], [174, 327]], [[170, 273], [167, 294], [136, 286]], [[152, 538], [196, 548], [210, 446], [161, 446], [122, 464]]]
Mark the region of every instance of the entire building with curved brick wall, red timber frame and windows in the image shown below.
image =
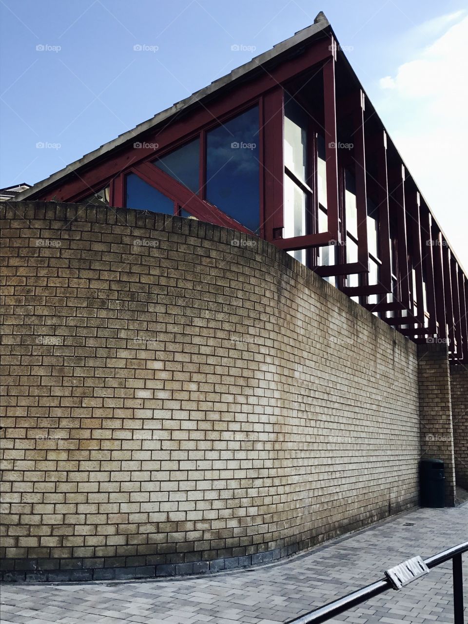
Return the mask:
[[5, 578], [273, 560], [421, 456], [467, 487], [466, 274], [323, 13], [16, 199]]

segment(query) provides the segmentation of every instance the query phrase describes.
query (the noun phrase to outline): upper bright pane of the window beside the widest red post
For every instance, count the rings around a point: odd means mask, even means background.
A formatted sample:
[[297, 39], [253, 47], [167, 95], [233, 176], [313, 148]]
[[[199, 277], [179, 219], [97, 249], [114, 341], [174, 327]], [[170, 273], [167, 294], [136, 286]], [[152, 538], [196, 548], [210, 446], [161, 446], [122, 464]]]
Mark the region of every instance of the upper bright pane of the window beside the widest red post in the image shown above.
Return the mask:
[[303, 182], [307, 167], [307, 119], [295, 100], [285, 103], [285, 165]]

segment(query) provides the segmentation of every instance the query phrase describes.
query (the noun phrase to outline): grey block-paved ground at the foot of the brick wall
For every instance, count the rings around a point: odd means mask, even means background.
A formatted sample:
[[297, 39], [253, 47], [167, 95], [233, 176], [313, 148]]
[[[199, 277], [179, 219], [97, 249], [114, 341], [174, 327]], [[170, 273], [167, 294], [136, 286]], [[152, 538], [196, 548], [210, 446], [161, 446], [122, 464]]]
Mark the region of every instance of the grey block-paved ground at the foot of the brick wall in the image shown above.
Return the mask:
[[[1, 588], [1, 624], [277, 624], [341, 597], [416, 554], [468, 540], [468, 504], [418, 509], [269, 566], [180, 580]], [[468, 607], [468, 557], [465, 556]], [[330, 622], [453, 623], [451, 565]], [[468, 622], [468, 608], [466, 608]]]

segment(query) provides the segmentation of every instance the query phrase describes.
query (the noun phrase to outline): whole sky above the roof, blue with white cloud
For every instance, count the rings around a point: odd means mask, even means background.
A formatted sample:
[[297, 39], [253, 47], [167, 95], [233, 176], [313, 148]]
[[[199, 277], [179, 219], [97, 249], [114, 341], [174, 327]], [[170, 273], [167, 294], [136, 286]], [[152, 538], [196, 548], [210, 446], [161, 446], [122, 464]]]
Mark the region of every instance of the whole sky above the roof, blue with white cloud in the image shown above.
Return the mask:
[[42, 180], [322, 10], [468, 265], [461, 0], [1, 0], [0, 9], [1, 187]]

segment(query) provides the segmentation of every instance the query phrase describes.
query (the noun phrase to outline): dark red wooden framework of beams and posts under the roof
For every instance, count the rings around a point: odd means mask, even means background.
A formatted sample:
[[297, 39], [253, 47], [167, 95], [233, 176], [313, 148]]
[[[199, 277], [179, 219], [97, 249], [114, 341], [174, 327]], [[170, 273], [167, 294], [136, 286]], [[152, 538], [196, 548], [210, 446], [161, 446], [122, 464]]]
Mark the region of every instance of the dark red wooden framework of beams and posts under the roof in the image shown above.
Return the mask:
[[[337, 69], [338, 68], [338, 69]], [[315, 134], [310, 151], [313, 176], [308, 183], [308, 195], [312, 197], [308, 208], [308, 234], [283, 238], [283, 177], [285, 164], [284, 141], [284, 99], [285, 85], [291, 80], [307, 84], [310, 76], [321, 71], [323, 79], [323, 132], [326, 150], [327, 188], [327, 231], [318, 232], [316, 185]], [[255, 76], [254, 76], [255, 74]], [[336, 101], [336, 76], [340, 84], [339, 101]], [[347, 76], [346, 79], [343, 76]], [[359, 296], [368, 310], [377, 312], [401, 333], [416, 342], [437, 336], [449, 341], [451, 358], [468, 362], [468, 323], [466, 318], [468, 287], [467, 279], [442, 236], [439, 227], [431, 217], [429, 208], [421, 202], [419, 190], [412, 178], [406, 174], [401, 158], [394, 145], [387, 144], [386, 133], [372, 105], [364, 107], [364, 92], [356, 90], [358, 81], [343, 53], [339, 51], [331, 31], [323, 37], [294, 49], [287, 59], [268, 66], [259, 65], [248, 79], [230, 90], [220, 93], [200, 105], [196, 99], [181, 112], [175, 113], [158, 127], [141, 133], [138, 140], [143, 147], [134, 147], [131, 141], [94, 158], [92, 162], [69, 173], [61, 181], [31, 194], [31, 199], [80, 202], [90, 193], [99, 192], [109, 185], [110, 205], [124, 207], [126, 203], [125, 176], [135, 173], [142, 180], [167, 195], [174, 203], [175, 214], [185, 208], [194, 217], [223, 227], [251, 233], [248, 228], [236, 222], [219, 208], [206, 200], [206, 154], [207, 132], [219, 124], [235, 117], [244, 110], [258, 105], [259, 111], [259, 197], [260, 236], [273, 242], [283, 250], [307, 250], [309, 266], [321, 276], [338, 276], [337, 284], [349, 296]], [[343, 89], [343, 87], [345, 87]], [[343, 95], [345, 93], [345, 95]], [[365, 108], [368, 108], [366, 111]], [[348, 112], [354, 116], [356, 130], [354, 139], [354, 171], [356, 174], [356, 206], [358, 208], [358, 262], [347, 263], [346, 224], [340, 177], [343, 155], [338, 154], [337, 145], [341, 118]], [[340, 117], [341, 115], [341, 117]], [[366, 123], [371, 120], [371, 124]], [[377, 120], [377, 122], [376, 122]], [[369, 127], [372, 131], [369, 132]], [[370, 134], [370, 136], [366, 136]], [[177, 149], [190, 140], [200, 140], [200, 180], [198, 193], [192, 193], [181, 183], [158, 169], [150, 161]], [[157, 144], [157, 149], [151, 147]], [[366, 155], [376, 162], [376, 177], [366, 169]], [[376, 200], [379, 213], [379, 260], [380, 276], [377, 285], [369, 285], [369, 251], [367, 241], [367, 198]], [[390, 238], [391, 222], [396, 220], [396, 275], [398, 293], [388, 301], [392, 293]], [[393, 225], [392, 225], [393, 227]], [[316, 266], [318, 248], [339, 245], [338, 260], [332, 266]], [[416, 271], [416, 292], [413, 292], [412, 269]], [[361, 273], [360, 286], [346, 286], [346, 276]], [[424, 284], [426, 285], [426, 307], [424, 309]], [[442, 296], [436, 296], [442, 293]], [[379, 295], [378, 303], [367, 303], [369, 296]], [[416, 298], [417, 314], [412, 313]], [[402, 312], [406, 311], [407, 316]], [[394, 314], [391, 318], [388, 313]], [[427, 319], [428, 322], [427, 322]], [[402, 327], [404, 326], [404, 327]], [[448, 332], [448, 333], [447, 333]]]

